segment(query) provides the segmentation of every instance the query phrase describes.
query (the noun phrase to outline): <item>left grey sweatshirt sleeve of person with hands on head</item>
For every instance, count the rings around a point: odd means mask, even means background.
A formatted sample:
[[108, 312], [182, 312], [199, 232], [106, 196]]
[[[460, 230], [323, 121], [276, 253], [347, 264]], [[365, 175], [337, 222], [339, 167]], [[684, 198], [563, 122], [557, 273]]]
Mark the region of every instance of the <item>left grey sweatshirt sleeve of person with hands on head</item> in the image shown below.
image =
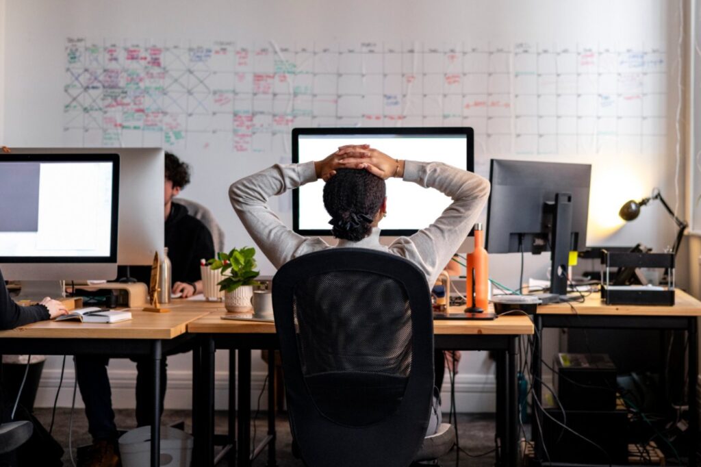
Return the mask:
[[[301, 187], [317, 180], [314, 163], [275, 164], [234, 182], [229, 188], [229, 200], [248, 234], [258, 248], [280, 268], [290, 259], [311, 250], [328, 247], [320, 238], [295, 234], [268, 206], [271, 196]], [[316, 247], [316, 248], [313, 248]]]

